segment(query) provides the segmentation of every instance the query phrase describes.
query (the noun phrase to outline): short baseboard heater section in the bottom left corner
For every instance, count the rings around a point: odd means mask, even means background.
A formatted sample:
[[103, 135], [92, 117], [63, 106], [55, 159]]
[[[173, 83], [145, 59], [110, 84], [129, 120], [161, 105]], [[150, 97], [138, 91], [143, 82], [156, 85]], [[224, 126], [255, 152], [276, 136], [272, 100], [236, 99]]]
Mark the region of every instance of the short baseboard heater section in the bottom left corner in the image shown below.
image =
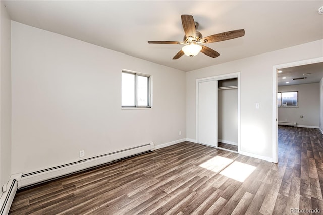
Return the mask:
[[7, 215], [9, 213], [10, 206], [18, 189], [18, 181], [16, 179], [10, 179], [7, 185], [4, 186], [6, 186], [6, 191], [0, 197], [1, 215]]

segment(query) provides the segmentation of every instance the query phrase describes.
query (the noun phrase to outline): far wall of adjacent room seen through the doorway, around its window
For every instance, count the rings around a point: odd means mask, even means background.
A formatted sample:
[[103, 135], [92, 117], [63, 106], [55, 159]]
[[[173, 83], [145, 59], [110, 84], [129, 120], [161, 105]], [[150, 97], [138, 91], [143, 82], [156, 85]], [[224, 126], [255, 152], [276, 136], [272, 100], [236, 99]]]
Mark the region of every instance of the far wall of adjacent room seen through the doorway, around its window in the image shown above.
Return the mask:
[[[298, 107], [278, 107], [278, 121], [298, 126], [319, 125], [319, 83], [279, 86], [278, 92], [298, 91]], [[304, 118], [300, 118], [303, 115]]]

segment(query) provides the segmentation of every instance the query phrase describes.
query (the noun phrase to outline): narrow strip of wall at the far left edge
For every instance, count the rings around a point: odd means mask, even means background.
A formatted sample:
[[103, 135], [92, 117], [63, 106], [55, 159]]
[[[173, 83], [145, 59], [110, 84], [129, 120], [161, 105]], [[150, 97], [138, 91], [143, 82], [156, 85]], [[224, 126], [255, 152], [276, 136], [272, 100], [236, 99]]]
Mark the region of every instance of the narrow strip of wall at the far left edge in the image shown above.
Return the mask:
[[11, 174], [11, 27], [4, 2], [0, 1], [0, 185]]

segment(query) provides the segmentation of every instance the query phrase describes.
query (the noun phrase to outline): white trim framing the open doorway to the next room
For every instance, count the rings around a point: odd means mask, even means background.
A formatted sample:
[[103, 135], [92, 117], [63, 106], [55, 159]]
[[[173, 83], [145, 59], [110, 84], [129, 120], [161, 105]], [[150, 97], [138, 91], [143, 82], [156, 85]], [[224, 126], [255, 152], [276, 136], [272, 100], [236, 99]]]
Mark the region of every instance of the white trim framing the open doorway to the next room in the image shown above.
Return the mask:
[[272, 138], [273, 138], [273, 162], [278, 162], [278, 124], [277, 124], [277, 118], [278, 118], [278, 110], [277, 110], [277, 71], [279, 69], [287, 68], [287, 67], [295, 67], [295, 66], [301, 66], [306, 64], [315, 64], [323, 62], [323, 57], [319, 58], [313, 58], [313, 59], [307, 59], [302, 61], [295, 61], [290, 62], [286, 64], [279, 64], [273, 66], [273, 121], [272, 121]]

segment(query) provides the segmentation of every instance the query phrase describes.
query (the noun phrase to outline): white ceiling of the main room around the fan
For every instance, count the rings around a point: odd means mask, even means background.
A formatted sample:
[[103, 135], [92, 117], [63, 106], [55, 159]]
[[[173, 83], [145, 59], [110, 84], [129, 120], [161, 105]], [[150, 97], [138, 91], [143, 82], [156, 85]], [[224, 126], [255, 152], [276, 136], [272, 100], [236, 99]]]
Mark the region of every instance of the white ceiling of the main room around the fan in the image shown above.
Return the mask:
[[[14, 21], [183, 71], [323, 39], [323, 1], [4, 2]], [[217, 58], [172, 60], [181, 45], [147, 41], [182, 41], [181, 14], [193, 15], [204, 37], [236, 29], [245, 36], [207, 44]]]

